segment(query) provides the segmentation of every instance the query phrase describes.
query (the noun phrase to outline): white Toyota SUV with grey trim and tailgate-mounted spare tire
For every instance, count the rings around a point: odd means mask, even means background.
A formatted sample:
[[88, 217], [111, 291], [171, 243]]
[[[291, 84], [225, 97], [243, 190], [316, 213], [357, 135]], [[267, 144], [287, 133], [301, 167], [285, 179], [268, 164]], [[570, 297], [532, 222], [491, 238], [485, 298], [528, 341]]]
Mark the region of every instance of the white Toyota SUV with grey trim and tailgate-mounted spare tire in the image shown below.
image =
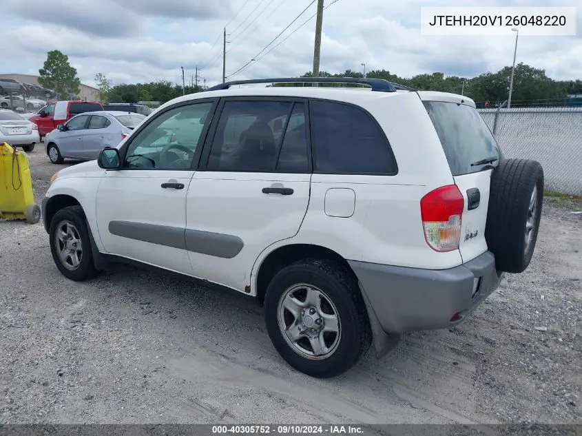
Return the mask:
[[[293, 85], [329, 81], [351, 87]], [[266, 79], [165, 103], [55, 174], [43, 218], [67, 278], [137, 261], [246, 293], [284, 360], [331, 377], [526, 269], [542, 198], [465, 96]]]

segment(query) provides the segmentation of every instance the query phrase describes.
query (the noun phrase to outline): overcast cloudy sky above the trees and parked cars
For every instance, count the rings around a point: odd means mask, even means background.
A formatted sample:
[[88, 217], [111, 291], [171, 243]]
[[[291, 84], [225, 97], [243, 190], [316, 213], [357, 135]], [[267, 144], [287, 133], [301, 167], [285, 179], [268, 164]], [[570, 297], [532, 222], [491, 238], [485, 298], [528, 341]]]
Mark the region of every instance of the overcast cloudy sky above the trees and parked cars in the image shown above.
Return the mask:
[[[325, 0], [321, 70], [386, 69], [476, 76], [511, 65], [515, 38], [423, 37], [421, 6], [581, 6], [582, 0]], [[296, 76], [311, 70], [315, 19], [264, 57], [315, 14], [316, 3], [267, 50], [261, 50], [311, 0], [1, 0], [0, 73], [38, 74], [48, 50], [61, 50], [92, 84], [187, 81], [194, 68], [207, 84], [222, 78], [222, 28], [227, 27], [231, 79]], [[581, 11], [576, 37], [519, 37], [517, 62], [554, 79], [582, 78]], [[261, 59], [259, 59], [261, 58]]]

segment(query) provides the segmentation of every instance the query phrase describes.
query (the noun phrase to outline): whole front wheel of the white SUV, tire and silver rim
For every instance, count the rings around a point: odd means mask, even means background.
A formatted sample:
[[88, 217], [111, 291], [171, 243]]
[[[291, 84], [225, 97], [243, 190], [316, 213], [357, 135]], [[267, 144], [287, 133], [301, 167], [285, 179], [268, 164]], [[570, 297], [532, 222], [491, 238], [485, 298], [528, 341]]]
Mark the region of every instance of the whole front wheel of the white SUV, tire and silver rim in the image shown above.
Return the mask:
[[70, 206], [54, 214], [50, 222], [50, 251], [63, 276], [80, 281], [95, 277], [91, 240], [81, 206]]

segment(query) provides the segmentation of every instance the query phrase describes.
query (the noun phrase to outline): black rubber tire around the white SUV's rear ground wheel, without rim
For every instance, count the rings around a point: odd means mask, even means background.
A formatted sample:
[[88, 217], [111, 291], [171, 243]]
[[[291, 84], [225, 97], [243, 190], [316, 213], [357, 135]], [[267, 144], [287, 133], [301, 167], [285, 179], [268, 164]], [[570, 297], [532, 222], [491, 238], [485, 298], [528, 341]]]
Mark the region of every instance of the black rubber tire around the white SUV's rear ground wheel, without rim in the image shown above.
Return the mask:
[[[283, 295], [295, 284], [322, 291], [337, 309], [339, 339], [335, 351], [321, 360], [304, 357], [287, 342], [279, 324]], [[351, 368], [370, 348], [372, 332], [357, 279], [344, 265], [330, 260], [306, 259], [281, 269], [264, 298], [264, 318], [273, 346], [293, 368], [313, 377], [335, 377]]]

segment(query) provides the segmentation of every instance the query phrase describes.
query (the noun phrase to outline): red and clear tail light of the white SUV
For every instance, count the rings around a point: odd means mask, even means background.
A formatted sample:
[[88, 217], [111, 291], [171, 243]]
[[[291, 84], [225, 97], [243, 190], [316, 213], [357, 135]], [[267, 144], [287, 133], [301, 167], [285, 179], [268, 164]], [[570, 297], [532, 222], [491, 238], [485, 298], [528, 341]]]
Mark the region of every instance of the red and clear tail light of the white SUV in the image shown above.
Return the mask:
[[465, 201], [457, 185], [430, 191], [420, 200], [424, 238], [435, 251], [459, 249]]

